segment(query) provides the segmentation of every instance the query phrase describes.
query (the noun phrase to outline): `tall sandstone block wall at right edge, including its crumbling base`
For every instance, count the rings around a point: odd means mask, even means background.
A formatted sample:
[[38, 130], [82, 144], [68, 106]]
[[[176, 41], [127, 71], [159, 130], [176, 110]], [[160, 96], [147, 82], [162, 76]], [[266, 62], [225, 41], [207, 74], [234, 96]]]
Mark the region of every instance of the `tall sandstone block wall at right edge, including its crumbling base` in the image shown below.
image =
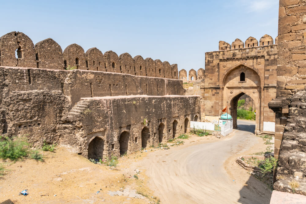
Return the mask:
[[278, 12], [278, 60], [276, 98], [269, 103], [275, 112], [274, 189], [306, 195], [306, 1], [280, 0]]

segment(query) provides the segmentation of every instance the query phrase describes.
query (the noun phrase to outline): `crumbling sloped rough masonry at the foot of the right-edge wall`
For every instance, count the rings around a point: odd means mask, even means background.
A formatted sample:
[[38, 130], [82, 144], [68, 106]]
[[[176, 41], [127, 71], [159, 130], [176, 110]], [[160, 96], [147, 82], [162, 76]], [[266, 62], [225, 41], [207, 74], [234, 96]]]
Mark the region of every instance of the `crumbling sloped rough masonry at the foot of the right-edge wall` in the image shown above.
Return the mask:
[[288, 102], [289, 113], [282, 142], [279, 144], [275, 140], [275, 145], [280, 145], [280, 152], [276, 176], [278, 181], [273, 188], [291, 192], [289, 183], [296, 180], [300, 185], [295, 189], [296, 193], [306, 195], [306, 91], [297, 91]]

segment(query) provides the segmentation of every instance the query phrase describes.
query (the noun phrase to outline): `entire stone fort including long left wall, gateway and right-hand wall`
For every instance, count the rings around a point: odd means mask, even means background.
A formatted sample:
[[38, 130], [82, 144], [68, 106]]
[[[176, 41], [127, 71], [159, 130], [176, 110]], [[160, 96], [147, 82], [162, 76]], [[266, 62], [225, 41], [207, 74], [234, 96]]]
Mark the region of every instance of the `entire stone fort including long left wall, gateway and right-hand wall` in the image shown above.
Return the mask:
[[[255, 134], [273, 135], [274, 189], [306, 195], [306, 1], [280, 0], [278, 36], [249, 37], [205, 53], [205, 67], [178, 72], [159, 59], [64, 51], [22, 32], [0, 37], [0, 133], [69, 144], [86, 158], [120, 156], [190, 131], [190, 121], [218, 121], [252, 98]], [[184, 89], [184, 83], [193, 83]], [[242, 144], [243, 145], [243, 144]]]

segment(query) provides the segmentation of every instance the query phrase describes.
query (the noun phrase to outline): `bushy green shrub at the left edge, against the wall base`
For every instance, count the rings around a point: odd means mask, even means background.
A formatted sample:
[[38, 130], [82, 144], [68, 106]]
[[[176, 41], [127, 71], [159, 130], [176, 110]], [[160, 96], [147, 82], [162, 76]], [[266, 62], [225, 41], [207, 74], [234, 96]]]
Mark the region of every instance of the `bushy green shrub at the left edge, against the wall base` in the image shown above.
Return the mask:
[[[2, 141], [1, 141], [2, 140]], [[25, 137], [12, 138], [0, 136], [0, 158], [17, 160], [28, 156], [29, 143]]]

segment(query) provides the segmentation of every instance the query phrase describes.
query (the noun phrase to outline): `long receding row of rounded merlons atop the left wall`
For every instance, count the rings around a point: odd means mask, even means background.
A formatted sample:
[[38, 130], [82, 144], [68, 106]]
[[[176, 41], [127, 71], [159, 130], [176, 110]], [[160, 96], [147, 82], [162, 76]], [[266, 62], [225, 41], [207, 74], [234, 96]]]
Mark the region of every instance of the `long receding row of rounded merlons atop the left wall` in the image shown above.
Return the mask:
[[167, 61], [144, 59], [128, 53], [119, 57], [113, 51], [104, 54], [96, 47], [84, 49], [78, 44], [62, 48], [48, 38], [33, 44], [22, 32], [10, 32], [0, 37], [0, 66], [43, 69], [82, 69], [90, 71], [116, 72], [136, 76], [151, 76], [178, 79], [177, 64]]

